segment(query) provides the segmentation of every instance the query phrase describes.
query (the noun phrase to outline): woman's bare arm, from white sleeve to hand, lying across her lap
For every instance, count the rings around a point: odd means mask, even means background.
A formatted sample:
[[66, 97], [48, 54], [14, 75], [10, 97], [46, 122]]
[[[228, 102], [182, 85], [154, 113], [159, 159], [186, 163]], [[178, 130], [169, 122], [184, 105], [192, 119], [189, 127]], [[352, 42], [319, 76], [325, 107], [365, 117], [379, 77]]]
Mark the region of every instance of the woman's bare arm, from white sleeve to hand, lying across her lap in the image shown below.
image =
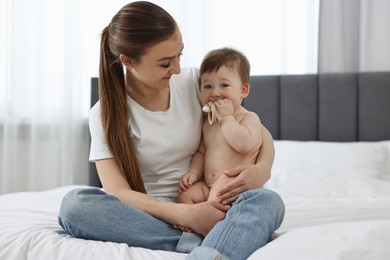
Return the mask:
[[[122, 203], [138, 208], [170, 224], [189, 227], [205, 236], [214, 225], [225, 218], [228, 207], [219, 203], [195, 205], [159, 201], [147, 194], [131, 190], [114, 159], [96, 161], [104, 190]], [[205, 217], [207, 216], [207, 217]], [[131, 218], [131, 216], [129, 216]]]

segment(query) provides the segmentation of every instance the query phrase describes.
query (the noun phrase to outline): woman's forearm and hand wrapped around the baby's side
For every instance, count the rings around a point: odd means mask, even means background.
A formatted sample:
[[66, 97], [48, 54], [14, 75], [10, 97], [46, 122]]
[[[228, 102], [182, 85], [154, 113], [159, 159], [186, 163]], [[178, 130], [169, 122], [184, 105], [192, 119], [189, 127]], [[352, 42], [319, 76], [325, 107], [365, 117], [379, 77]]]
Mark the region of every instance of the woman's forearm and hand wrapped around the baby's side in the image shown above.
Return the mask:
[[264, 126], [261, 133], [263, 143], [256, 164], [240, 165], [225, 171], [229, 177], [236, 178], [219, 192], [218, 199], [224, 204], [233, 203], [244, 191], [262, 187], [271, 178], [271, 168], [275, 157], [273, 138]]

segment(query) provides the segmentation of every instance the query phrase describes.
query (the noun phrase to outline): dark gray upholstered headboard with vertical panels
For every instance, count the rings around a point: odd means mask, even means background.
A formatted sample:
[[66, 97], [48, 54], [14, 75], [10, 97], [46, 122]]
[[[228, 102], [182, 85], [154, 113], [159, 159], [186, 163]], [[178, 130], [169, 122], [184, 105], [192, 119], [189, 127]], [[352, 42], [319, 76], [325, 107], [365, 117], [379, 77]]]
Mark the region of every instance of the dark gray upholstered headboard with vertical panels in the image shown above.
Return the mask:
[[[93, 105], [97, 78], [91, 96]], [[251, 76], [244, 106], [275, 140], [390, 140], [390, 72]], [[90, 182], [100, 185], [94, 164]]]

